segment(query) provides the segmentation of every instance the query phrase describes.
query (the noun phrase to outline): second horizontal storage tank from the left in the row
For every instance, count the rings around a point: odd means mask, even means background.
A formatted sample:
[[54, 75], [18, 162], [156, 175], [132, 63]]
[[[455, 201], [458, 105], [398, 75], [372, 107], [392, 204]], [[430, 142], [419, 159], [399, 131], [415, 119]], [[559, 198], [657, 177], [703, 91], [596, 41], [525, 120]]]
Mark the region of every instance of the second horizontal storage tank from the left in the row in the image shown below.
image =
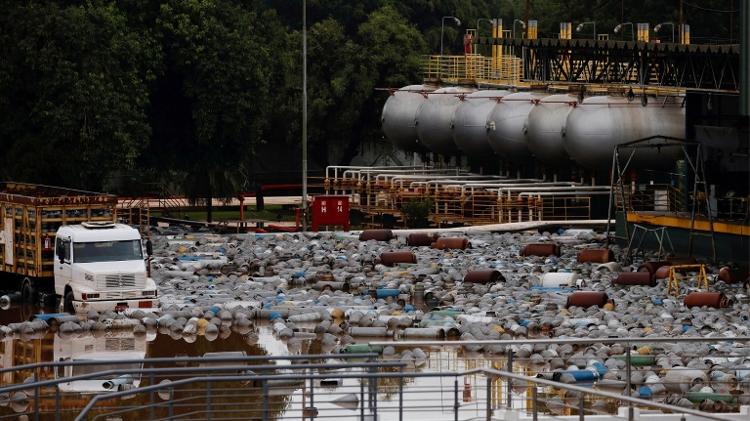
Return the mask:
[[449, 156], [459, 153], [453, 141], [453, 113], [461, 104], [461, 94], [474, 89], [448, 87], [437, 89], [427, 96], [417, 111], [417, 136], [430, 151]]

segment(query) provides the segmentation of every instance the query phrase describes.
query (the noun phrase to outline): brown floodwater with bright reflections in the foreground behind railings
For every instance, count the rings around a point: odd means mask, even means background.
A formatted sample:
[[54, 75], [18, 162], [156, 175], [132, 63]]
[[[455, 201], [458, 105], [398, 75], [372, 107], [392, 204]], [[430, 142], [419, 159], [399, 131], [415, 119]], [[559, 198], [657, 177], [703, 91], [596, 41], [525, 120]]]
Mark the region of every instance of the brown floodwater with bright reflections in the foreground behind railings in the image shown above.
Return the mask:
[[[0, 323], [19, 322], [32, 318], [38, 312], [51, 312], [52, 309], [39, 309], [29, 306], [14, 306], [10, 310], [0, 312]], [[406, 370], [410, 372], [460, 372], [482, 367], [503, 369], [506, 360], [501, 356], [487, 356], [481, 353], [467, 353], [459, 347], [437, 348], [422, 347], [426, 359], [416, 366], [411, 363]], [[398, 349], [400, 350], [400, 349]], [[0, 366], [2, 368], [18, 367], [25, 364], [45, 363], [53, 361], [78, 360], [113, 360], [121, 363], [110, 363], [94, 367], [65, 367], [42, 368], [40, 370], [16, 370], [4, 372], [0, 376], [2, 386], [22, 383], [33, 379], [36, 375], [41, 380], [53, 380], [74, 375], [86, 374], [105, 369], [138, 369], [139, 363], [128, 363], [128, 360], [142, 358], [172, 358], [182, 356], [203, 356], [216, 352], [241, 352], [249, 356], [288, 356], [302, 354], [318, 354], [324, 351], [317, 339], [302, 341], [281, 341], [277, 339], [271, 326], [265, 323], [254, 325], [248, 332], [240, 334], [231, 332], [214, 341], [204, 336], [196, 336], [193, 340], [172, 338], [166, 334], [156, 332], [147, 335], [134, 335], [131, 331], [108, 331], [101, 335], [63, 337], [53, 330], [39, 337], [24, 339], [6, 339], [0, 341]], [[398, 361], [386, 360], [386, 361]], [[343, 361], [340, 361], [343, 362]], [[232, 363], [227, 363], [232, 364]], [[249, 365], [269, 364], [267, 361], [252, 361]], [[277, 361], [276, 371], [258, 371], [261, 373], [283, 374], [284, 367], [293, 364], [288, 361]], [[236, 364], [235, 364], [236, 365]], [[158, 367], [174, 367], [175, 364], [161, 364]], [[178, 364], [179, 366], [179, 364]], [[181, 378], [194, 377], [200, 374], [191, 370], [190, 366], [182, 365], [182, 373], [156, 374], [134, 376], [134, 387], [146, 387], [163, 381], [178, 381]], [[259, 366], [258, 366], [259, 367]], [[394, 368], [383, 368], [382, 371], [396, 371]], [[514, 365], [514, 371], [522, 374], [535, 374], [533, 369], [523, 363]], [[326, 371], [323, 371], [326, 372]], [[362, 414], [366, 384], [355, 378], [336, 378], [331, 373], [330, 380], [310, 382], [288, 382], [270, 386], [264, 391], [261, 385], [253, 382], [211, 383], [211, 400], [207, 400], [205, 384], [194, 383], [175, 387], [172, 391], [173, 399], [169, 399], [169, 389], [158, 394], [142, 393], [129, 399], [102, 401], [96, 405], [93, 414], [104, 415], [100, 419], [126, 420], [166, 417], [170, 414], [187, 416], [193, 411], [205, 410], [210, 406], [212, 411], [218, 412], [226, 418], [262, 419], [264, 409], [270, 413], [270, 419], [301, 419], [309, 415], [305, 408], [314, 406], [319, 418], [335, 416], [340, 419], [359, 419]], [[98, 380], [61, 383], [57, 388], [42, 388], [39, 399], [28, 391], [25, 395], [13, 394], [0, 398], [0, 418], [15, 418], [17, 415], [28, 414], [35, 419], [38, 408], [39, 419], [73, 419], [90, 399], [97, 394], [109, 392], [103, 388], [103, 382], [114, 376]], [[382, 419], [398, 419], [397, 408], [399, 399], [406, 404], [405, 414], [414, 420], [453, 419], [453, 410], [460, 407], [461, 419], [484, 416], [487, 397], [492, 407], [506, 405], [506, 389], [504, 384], [493, 381], [491, 389], [487, 389], [486, 378], [482, 375], [468, 375], [455, 377], [415, 377], [408, 378], [401, 384], [396, 379], [381, 379], [377, 384], [377, 401], [365, 402], [367, 413], [372, 407], [381, 414]], [[399, 393], [401, 390], [401, 393]], [[263, 393], [268, 394], [264, 407]], [[554, 390], [539, 390], [539, 397], [564, 397]], [[514, 388], [513, 406], [528, 407], [530, 390], [525, 387]], [[10, 399], [9, 399], [10, 398]], [[59, 405], [57, 400], [59, 399]], [[366, 398], [365, 398], [366, 399]], [[314, 402], [311, 402], [313, 400]], [[171, 401], [172, 405], [165, 402]], [[577, 402], [577, 401], [576, 401]], [[573, 406], [577, 403], [572, 402]], [[152, 405], [148, 407], [148, 405]], [[590, 403], [587, 403], [589, 406]], [[145, 406], [145, 407], [144, 407]], [[540, 410], [544, 410], [540, 404]], [[615, 411], [613, 405], [608, 405], [608, 412]], [[124, 411], [118, 413], [118, 411]], [[575, 413], [574, 411], [564, 411]], [[216, 416], [219, 418], [219, 416]], [[195, 419], [204, 418], [198, 415]]]

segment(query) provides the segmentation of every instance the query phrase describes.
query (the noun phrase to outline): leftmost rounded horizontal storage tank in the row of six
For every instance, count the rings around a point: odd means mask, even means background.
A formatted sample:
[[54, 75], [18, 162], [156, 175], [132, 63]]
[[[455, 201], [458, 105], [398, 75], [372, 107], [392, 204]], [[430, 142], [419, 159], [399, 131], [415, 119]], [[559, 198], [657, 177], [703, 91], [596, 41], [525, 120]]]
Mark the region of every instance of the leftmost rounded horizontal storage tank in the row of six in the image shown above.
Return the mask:
[[398, 149], [424, 152], [417, 138], [417, 110], [427, 100], [430, 85], [409, 85], [393, 91], [383, 105], [380, 123], [385, 137]]

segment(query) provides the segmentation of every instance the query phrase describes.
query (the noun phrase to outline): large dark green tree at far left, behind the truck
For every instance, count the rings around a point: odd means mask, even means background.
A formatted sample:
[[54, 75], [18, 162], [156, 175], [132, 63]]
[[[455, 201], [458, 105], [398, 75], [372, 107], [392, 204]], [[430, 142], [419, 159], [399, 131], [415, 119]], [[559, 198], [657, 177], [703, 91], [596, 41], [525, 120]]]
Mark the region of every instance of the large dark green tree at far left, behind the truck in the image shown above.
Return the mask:
[[147, 145], [159, 49], [112, 2], [6, 2], [0, 17], [3, 178], [101, 189]]

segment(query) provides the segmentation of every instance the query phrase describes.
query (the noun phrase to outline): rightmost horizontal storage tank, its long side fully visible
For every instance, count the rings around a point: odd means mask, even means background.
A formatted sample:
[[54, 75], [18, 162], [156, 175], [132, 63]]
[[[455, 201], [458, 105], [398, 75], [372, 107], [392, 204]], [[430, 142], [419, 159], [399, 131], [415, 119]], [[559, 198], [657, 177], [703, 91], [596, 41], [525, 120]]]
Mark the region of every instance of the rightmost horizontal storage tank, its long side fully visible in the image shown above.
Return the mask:
[[[564, 143], [570, 157], [580, 165], [609, 169], [616, 145], [657, 135], [685, 138], [685, 109], [679, 103], [651, 101], [644, 107], [637, 100], [596, 96], [586, 98], [570, 112]], [[631, 165], [669, 168], [680, 156], [682, 150], [676, 147], [640, 148]], [[623, 162], [626, 159], [621, 157]]]

